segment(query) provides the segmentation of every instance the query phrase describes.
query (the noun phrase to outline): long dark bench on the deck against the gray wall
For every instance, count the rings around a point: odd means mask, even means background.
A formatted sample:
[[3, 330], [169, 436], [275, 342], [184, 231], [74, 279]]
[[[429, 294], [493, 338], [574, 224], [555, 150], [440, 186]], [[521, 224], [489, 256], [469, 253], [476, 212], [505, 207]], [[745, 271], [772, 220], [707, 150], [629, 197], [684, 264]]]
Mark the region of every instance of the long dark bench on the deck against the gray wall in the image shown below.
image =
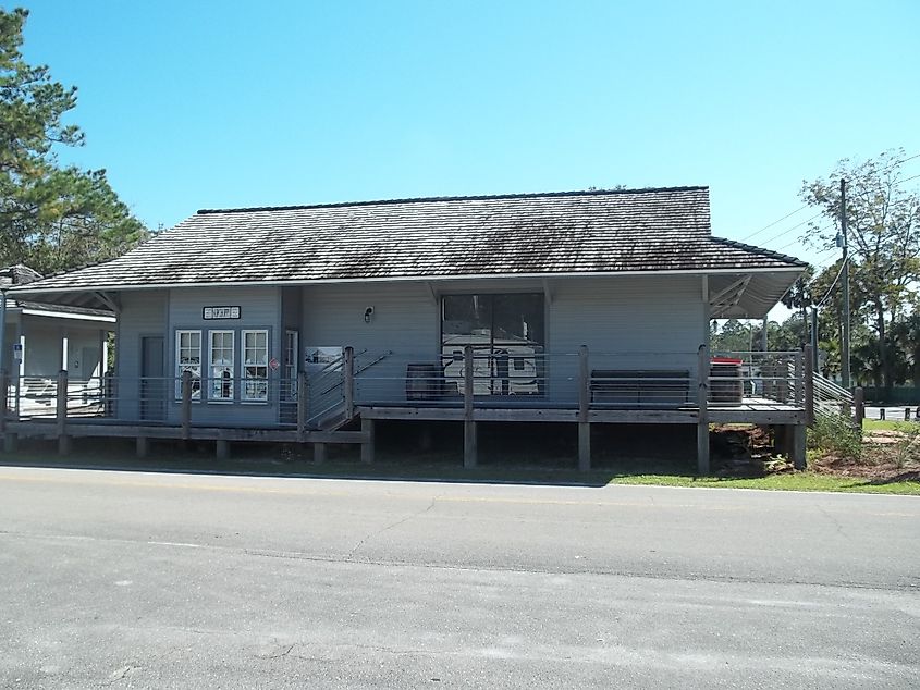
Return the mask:
[[623, 407], [674, 407], [690, 398], [686, 369], [594, 369], [591, 402]]

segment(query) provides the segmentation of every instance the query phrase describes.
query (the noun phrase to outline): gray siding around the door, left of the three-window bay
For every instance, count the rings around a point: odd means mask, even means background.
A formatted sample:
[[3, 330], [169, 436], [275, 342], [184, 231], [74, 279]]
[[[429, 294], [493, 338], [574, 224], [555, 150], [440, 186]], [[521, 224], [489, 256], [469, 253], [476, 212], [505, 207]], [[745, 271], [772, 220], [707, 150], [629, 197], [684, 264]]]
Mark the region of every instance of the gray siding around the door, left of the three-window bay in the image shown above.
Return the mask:
[[168, 301], [167, 291], [122, 293], [115, 343], [116, 410], [120, 419], [137, 420], [140, 416], [140, 337], [165, 335]]

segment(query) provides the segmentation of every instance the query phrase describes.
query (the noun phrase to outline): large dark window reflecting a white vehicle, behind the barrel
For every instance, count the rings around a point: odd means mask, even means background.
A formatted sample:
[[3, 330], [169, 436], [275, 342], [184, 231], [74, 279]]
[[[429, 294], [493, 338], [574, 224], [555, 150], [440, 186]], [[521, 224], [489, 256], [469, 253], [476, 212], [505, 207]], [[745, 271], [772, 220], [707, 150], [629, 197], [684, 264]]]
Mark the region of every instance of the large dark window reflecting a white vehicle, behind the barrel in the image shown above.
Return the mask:
[[544, 330], [542, 294], [445, 295], [441, 348], [449, 389], [463, 390], [463, 352], [470, 345], [476, 395], [542, 393]]

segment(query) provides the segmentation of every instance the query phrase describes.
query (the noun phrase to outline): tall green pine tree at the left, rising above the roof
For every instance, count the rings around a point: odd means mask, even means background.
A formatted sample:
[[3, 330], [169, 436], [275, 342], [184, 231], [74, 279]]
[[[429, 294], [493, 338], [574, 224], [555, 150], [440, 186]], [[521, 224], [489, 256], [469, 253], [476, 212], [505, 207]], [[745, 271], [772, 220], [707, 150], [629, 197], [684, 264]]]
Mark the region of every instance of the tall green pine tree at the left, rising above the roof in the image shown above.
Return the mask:
[[28, 11], [0, 9], [0, 266], [53, 273], [114, 258], [149, 236], [105, 170], [60, 164], [84, 144], [66, 123], [76, 88], [22, 56]]

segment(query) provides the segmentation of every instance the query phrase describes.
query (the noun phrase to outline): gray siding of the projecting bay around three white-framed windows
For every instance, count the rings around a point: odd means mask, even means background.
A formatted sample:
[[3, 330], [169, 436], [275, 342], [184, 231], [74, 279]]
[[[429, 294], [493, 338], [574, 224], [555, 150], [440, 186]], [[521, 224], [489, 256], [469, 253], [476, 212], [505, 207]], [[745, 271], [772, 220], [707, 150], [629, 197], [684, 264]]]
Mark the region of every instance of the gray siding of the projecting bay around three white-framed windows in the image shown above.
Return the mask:
[[[214, 306], [240, 307], [238, 319], [205, 320], [203, 309]], [[167, 375], [174, 377], [175, 368], [175, 332], [177, 330], [201, 331], [201, 372], [207, 375], [208, 368], [208, 331], [234, 331], [234, 387], [235, 402], [207, 401], [207, 393], [200, 402], [193, 403], [192, 423], [196, 424], [233, 424], [250, 426], [274, 424], [278, 416], [279, 379], [282, 368], [278, 371], [269, 370], [269, 401], [268, 403], [240, 402], [240, 381], [242, 366], [241, 331], [267, 330], [269, 332], [269, 357], [281, 360], [282, 328], [281, 328], [281, 288], [274, 285], [265, 287], [219, 287], [219, 288], [183, 288], [170, 291], [169, 322], [165, 329]], [[203, 383], [203, 387], [205, 384]], [[168, 393], [168, 418], [171, 422], [180, 421], [181, 405], [175, 401], [174, 391]]]

